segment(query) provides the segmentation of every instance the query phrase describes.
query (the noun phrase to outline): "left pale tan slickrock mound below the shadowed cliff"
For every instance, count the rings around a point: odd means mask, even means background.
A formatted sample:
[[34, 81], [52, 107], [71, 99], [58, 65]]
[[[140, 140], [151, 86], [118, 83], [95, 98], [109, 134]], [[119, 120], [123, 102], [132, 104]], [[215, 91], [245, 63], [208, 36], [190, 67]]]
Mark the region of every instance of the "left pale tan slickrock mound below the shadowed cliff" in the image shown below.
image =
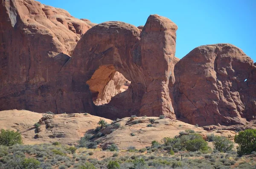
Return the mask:
[[[43, 117], [47, 116], [50, 118]], [[48, 115], [26, 110], [0, 111], [0, 129], [19, 131], [25, 144], [51, 143], [77, 144], [85, 132], [98, 126], [101, 117], [81, 113]], [[106, 120], [111, 123], [112, 120]], [[36, 129], [35, 123], [41, 126]]]

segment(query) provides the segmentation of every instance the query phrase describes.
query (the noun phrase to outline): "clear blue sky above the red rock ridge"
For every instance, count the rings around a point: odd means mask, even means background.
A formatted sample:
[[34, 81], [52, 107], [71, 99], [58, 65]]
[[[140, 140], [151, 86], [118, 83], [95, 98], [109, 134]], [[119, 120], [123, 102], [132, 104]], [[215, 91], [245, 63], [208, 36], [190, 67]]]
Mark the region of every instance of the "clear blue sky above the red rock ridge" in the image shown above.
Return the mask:
[[231, 43], [256, 62], [256, 0], [39, 0], [93, 23], [144, 25], [150, 14], [178, 26], [176, 56], [197, 46]]

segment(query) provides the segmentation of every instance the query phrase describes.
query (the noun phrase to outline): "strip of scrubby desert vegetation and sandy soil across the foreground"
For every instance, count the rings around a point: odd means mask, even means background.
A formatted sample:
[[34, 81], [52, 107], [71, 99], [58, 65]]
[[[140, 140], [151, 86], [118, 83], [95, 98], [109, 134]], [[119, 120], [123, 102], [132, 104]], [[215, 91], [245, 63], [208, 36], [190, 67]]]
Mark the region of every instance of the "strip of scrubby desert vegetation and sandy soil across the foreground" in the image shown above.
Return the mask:
[[[102, 125], [102, 119], [100, 121]], [[17, 142], [0, 142], [0, 169], [253, 169], [256, 166], [254, 132], [239, 132], [235, 138], [238, 152], [226, 137], [208, 135], [206, 140], [214, 145], [211, 149], [209, 142], [190, 130], [174, 138], [164, 137], [161, 142], [154, 140], [151, 146], [139, 150], [134, 146], [119, 150], [115, 143], [105, 150], [98, 148], [99, 143], [93, 138], [99, 131], [94, 135], [85, 134], [77, 146], [58, 142], [22, 145], [22, 140], [16, 139]], [[20, 138], [17, 133], [2, 129], [0, 140]], [[244, 137], [250, 138], [250, 142]]]

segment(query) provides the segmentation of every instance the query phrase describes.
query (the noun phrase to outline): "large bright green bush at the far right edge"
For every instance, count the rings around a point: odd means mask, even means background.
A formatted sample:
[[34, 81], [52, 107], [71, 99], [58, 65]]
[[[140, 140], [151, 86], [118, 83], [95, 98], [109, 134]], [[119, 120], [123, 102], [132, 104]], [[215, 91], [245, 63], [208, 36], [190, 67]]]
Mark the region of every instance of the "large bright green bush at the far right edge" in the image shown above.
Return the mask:
[[239, 155], [250, 154], [256, 151], [256, 129], [246, 129], [235, 136], [235, 143], [238, 143], [237, 153]]

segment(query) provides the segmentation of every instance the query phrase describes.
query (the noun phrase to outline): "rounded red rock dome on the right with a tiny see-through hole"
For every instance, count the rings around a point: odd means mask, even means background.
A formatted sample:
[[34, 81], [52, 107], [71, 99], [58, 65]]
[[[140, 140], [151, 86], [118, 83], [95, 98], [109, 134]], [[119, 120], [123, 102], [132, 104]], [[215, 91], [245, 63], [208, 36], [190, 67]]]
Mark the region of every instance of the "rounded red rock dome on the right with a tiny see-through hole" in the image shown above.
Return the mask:
[[189, 123], [244, 124], [256, 116], [256, 66], [236, 46], [199, 46], [174, 73], [175, 113]]

